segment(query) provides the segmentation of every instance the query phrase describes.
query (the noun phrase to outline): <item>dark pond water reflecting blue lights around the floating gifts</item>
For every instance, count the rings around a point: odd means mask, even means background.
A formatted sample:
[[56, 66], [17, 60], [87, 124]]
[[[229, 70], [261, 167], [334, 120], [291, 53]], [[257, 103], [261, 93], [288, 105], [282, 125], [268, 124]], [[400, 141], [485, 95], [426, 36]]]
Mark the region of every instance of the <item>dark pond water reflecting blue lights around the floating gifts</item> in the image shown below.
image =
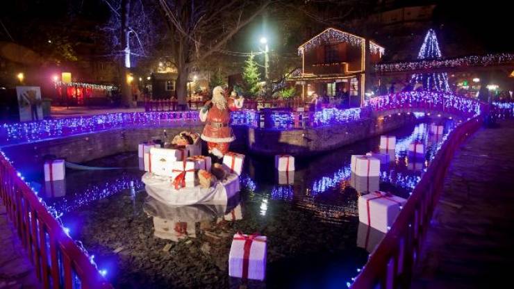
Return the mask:
[[[383, 237], [358, 222], [358, 194], [369, 187], [408, 197], [454, 127], [451, 120], [439, 122], [442, 135], [429, 133], [428, 119], [389, 133], [397, 137], [395, 161], [382, 165], [376, 179], [352, 176], [350, 158], [377, 151], [379, 137], [297, 158], [288, 176], [292, 185], [279, 184], [284, 176], [276, 174], [272, 158], [247, 156], [242, 190], [223, 206], [171, 208], [150, 199], [137, 152], [84, 164], [119, 169], [67, 170], [66, 180], [53, 188], [41, 185], [40, 197], [63, 213], [70, 235], [95, 255], [116, 288], [237, 288], [243, 281], [228, 274], [236, 231], [267, 236], [266, 280], [245, 285], [341, 288]], [[413, 140], [426, 145], [424, 159], [408, 159]], [[35, 187], [44, 183], [40, 172], [24, 174]], [[179, 221], [187, 223], [185, 238], [174, 233], [172, 224]]]

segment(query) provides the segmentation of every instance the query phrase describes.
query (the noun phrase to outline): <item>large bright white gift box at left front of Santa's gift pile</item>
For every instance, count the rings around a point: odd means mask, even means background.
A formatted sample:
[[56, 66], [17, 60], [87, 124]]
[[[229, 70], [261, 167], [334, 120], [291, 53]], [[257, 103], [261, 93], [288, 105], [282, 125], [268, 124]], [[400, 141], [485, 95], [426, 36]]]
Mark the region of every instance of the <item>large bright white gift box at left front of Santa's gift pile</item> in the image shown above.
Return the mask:
[[161, 149], [152, 147], [144, 154], [144, 170], [158, 176], [172, 176], [173, 164], [185, 158], [184, 149]]

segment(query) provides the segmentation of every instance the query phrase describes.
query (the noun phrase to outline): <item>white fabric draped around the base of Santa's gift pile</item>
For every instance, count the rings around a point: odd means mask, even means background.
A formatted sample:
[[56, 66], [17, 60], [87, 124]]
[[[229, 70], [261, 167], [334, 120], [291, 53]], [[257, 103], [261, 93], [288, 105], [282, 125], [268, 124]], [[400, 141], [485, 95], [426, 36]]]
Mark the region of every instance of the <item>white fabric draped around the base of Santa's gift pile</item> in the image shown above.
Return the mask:
[[225, 181], [217, 181], [210, 188], [181, 188], [175, 190], [172, 179], [145, 173], [142, 181], [146, 185], [148, 195], [158, 201], [174, 206], [192, 204], [226, 204], [227, 199], [240, 190], [239, 176], [229, 174]]

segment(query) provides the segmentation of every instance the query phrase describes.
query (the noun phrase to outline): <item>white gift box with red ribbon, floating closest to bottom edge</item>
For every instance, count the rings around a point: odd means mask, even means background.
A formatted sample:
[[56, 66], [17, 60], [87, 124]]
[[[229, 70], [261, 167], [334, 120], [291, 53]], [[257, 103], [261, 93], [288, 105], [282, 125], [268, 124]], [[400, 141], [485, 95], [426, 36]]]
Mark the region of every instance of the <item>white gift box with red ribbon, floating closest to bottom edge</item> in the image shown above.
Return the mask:
[[[249, 244], [245, 245], [247, 242]], [[266, 275], [266, 252], [265, 236], [248, 236], [236, 233], [229, 254], [229, 276], [264, 280]]]

